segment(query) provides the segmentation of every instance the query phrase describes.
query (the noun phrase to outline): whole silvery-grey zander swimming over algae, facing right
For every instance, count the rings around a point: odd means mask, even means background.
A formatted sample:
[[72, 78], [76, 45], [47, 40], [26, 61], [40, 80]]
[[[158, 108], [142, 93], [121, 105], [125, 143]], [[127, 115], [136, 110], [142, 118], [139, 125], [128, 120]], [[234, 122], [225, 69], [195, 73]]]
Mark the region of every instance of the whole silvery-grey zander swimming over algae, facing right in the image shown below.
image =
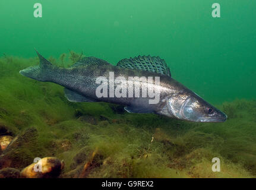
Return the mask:
[[194, 122], [224, 122], [225, 113], [171, 77], [159, 56], [122, 59], [116, 66], [85, 57], [69, 68], [52, 65], [37, 52], [40, 63], [20, 71], [34, 80], [65, 87], [71, 102], [109, 102], [130, 113], [156, 113]]

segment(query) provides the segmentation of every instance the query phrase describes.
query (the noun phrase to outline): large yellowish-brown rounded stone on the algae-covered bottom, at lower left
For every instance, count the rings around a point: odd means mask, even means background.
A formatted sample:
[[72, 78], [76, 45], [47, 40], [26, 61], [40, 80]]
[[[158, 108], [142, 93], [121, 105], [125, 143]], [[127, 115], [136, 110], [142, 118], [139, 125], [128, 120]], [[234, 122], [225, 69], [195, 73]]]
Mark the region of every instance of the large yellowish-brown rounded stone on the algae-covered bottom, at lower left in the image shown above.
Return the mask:
[[24, 168], [21, 178], [57, 178], [61, 174], [64, 162], [56, 157], [45, 157], [37, 163], [30, 164]]

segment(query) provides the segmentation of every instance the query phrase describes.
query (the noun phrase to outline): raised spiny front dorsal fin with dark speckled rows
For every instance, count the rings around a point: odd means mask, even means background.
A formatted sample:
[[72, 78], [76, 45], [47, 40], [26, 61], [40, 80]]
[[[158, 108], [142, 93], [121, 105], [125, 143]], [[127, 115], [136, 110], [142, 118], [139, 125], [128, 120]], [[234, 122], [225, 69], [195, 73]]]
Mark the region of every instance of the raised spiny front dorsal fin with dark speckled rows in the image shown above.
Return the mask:
[[135, 58], [122, 59], [116, 66], [124, 68], [140, 69], [144, 71], [151, 71], [170, 76], [170, 69], [166, 65], [165, 60], [159, 56], [138, 56]]

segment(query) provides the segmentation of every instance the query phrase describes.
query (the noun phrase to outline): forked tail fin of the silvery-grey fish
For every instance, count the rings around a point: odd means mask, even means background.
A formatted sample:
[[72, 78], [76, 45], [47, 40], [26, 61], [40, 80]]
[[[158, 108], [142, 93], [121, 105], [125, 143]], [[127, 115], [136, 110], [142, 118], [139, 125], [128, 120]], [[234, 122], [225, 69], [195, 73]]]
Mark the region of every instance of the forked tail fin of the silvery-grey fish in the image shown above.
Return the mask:
[[42, 55], [40, 55], [37, 50], [36, 53], [39, 57], [39, 65], [30, 66], [29, 68], [23, 69], [20, 71], [20, 74], [38, 81], [49, 81], [48, 74], [50, 69], [52, 69], [52, 64]]

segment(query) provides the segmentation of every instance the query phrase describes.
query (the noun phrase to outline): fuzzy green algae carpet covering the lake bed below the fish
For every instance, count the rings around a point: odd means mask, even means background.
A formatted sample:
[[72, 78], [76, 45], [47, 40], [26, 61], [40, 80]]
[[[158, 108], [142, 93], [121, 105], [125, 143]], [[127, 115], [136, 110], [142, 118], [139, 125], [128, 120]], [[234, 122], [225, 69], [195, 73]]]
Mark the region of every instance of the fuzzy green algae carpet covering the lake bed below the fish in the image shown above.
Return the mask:
[[[68, 66], [83, 56], [69, 54], [49, 59]], [[109, 103], [71, 103], [63, 87], [19, 74], [38, 62], [0, 58], [0, 177], [28, 176], [36, 157], [54, 160], [59, 178], [256, 177], [255, 100], [217, 106], [228, 118], [216, 124], [127, 113]], [[220, 172], [211, 170], [213, 157]]]

